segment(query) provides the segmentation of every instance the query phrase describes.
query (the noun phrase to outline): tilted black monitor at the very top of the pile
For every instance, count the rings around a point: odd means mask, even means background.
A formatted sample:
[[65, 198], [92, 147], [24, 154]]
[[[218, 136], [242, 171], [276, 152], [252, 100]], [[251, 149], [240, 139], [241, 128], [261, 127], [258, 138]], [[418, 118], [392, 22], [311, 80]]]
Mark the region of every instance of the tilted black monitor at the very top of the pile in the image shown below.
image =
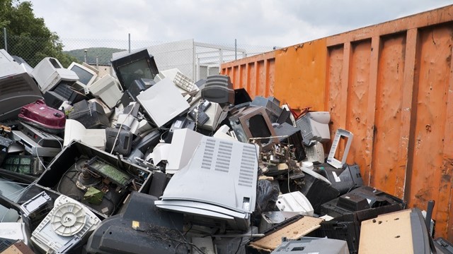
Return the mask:
[[134, 80], [150, 78], [159, 74], [154, 56], [148, 53], [147, 49], [132, 52], [112, 60], [113, 70], [120, 80], [122, 90], [127, 90]]

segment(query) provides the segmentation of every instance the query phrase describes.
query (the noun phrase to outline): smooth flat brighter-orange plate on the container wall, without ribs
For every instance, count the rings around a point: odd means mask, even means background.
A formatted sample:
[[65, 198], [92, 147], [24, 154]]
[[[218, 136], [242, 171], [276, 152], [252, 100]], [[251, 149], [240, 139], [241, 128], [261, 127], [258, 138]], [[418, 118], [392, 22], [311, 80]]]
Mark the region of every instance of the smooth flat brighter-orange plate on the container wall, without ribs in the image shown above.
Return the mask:
[[275, 55], [275, 97], [289, 107], [324, 109], [326, 40], [280, 49]]

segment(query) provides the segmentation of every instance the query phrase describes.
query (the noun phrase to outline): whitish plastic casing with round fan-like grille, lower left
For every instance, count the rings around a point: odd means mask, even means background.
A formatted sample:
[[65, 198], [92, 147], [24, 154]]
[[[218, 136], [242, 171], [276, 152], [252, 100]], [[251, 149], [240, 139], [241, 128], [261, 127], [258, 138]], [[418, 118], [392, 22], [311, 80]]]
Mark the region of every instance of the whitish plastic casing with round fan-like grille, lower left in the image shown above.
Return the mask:
[[99, 223], [101, 220], [85, 205], [60, 195], [53, 209], [33, 231], [31, 241], [42, 253], [59, 253], [60, 248], [74, 238], [79, 243], [86, 240]]

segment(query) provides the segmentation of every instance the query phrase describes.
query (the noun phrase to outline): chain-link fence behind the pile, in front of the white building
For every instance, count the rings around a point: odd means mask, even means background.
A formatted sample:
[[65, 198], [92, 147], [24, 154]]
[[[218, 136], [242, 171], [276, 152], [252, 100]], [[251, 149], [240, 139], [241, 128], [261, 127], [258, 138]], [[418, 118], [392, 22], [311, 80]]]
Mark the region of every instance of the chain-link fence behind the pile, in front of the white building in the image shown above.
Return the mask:
[[96, 40], [61, 38], [30, 38], [9, 36], [0, 30], [0, 48], [11, 55], [21, 56], [30, 66], [35, 66], [46, 56], [52, 56], [67, 67], [72, 61], [86, 62], [96, 66], [110, 66], [113, 56], [121, 52], [147, 48], [161, 70], [179, 68], [190, 78], [197, 80], [218, 73], [220, 64], [246, 56], [273, 50], [271, 46], [229, 43], [205, 43], [194, 40], [178, 42]]

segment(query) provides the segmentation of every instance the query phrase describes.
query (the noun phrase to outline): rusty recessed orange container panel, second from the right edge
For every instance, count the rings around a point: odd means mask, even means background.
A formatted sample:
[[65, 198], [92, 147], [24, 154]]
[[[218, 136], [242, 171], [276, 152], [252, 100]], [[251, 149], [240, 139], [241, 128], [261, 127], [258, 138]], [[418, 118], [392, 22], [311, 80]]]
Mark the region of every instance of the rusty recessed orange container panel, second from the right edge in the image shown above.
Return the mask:
[[377, 74], [376, 113], [371, 185], [396, 195], [404, 183], [405, 167], [399, 167], [406, 35], [382, 38]]

